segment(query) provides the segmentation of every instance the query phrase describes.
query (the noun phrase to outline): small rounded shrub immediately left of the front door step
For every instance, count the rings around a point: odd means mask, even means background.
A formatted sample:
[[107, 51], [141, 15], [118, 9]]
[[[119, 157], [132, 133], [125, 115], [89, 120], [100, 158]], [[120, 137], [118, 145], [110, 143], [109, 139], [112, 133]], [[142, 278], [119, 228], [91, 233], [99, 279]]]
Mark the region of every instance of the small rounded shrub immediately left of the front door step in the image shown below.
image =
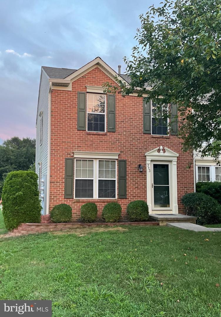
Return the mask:
[[134, 200], [127, 205], [127, 214], [131, 221], [145, 221], [149, 218], [148, 205], [144, 200]]

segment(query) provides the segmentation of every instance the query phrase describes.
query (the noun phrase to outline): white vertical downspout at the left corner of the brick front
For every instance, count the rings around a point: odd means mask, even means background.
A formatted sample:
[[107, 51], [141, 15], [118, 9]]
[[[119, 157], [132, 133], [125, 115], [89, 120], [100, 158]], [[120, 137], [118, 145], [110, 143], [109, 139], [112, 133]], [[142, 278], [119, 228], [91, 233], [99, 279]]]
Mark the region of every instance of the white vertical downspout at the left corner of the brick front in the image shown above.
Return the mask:
[[49, 82], [48, 94], [48, 164], [47, 164], [47, 202], [46, 214], [49, 214], [49, 199], [50, 199], [50, 135], [51, 135], [51, 82]]

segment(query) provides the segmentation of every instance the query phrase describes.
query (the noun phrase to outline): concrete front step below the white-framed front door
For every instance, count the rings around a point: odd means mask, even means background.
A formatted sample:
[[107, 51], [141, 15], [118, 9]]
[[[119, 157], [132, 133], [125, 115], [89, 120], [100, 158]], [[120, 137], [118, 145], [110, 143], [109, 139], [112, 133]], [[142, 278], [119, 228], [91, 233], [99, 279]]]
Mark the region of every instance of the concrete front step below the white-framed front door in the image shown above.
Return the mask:
[[187, 216], [187, 215], [182, 215], [182, 214], [150, 214], [150, 219], [153, 219], [155, 221], [159, 222], [160, 226], [166, 226], [168, 222], [170, 223], [177, 223], [177, 222], [182, 222], [182, 223], [195, 223], [197, 217], [193, 216]]

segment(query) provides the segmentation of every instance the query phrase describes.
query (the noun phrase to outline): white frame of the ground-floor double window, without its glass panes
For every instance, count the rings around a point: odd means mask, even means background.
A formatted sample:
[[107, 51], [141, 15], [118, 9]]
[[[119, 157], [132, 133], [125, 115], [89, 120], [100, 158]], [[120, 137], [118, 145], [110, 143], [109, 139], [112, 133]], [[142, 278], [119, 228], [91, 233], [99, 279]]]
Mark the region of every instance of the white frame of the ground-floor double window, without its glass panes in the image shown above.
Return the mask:
[[[79, 198], [75, 197], [75, 180], [76, 179], [92, 179], [92, 178], [76, 178], [76, 160], [93, 160], [93, 167], [94, 167], [94, 178], [93, 178], [93, 198]], [[115, 178], [104, 178], [106, 180], [115, 180], [115, 198], [98, 198], [98, 180], [103, 179], [103, 178], [98, 178], [99, 176], [99, 161], [115, 161], [115, 166], [116, 166], [116, 174]], [[74, 199], [85, 199], [85, 200], [90, 200], [90, 199], [97, 199], [97, 200], [112, 200], [112, 199], [117, 199], [117, 159], [107, 159], [107, 158], [99, 158], [99, 159], [91, 159], [91, 158], [75, 158], [74, 160]]]

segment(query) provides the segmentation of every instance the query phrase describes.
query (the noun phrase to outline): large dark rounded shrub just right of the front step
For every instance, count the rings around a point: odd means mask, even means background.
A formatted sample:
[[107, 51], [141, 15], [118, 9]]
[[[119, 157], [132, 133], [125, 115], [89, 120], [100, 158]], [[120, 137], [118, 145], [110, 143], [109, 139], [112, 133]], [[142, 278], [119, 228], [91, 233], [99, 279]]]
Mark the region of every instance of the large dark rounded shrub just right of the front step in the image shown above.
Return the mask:
[[221, 221], [221, 205], [218, 202], [203, 193], [189, 193], [182, 197], [187, 214], [198, 217], [197, 223], [211, 224]]

